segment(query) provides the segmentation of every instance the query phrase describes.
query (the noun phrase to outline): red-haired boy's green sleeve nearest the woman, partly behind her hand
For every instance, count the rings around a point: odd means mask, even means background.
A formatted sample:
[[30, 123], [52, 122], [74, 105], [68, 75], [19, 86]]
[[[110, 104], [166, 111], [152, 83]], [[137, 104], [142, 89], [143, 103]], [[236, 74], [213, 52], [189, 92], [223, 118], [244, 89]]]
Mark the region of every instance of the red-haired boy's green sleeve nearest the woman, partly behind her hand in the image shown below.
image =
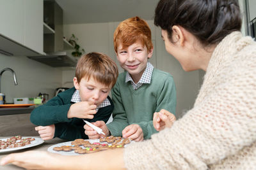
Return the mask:
[[[157, 106], [155, 112], [164, 109], [170, 111], [171, 113], [173, 113], [173, 115], [175, 115], [176, 89], [172, 76], [167, 76], [166, 80], [163, 83], [163, 87], [161, 88], [161, 90], [159, 90], [159, 94], [157, 94], [157, 96]], [[154, 128], [152, 120], [149, 122], [140, 122], [138, 123], [138, 125], [140, 125], [143, 131], [144, 139], [150, 139], [151, 135], [157, 132]]]

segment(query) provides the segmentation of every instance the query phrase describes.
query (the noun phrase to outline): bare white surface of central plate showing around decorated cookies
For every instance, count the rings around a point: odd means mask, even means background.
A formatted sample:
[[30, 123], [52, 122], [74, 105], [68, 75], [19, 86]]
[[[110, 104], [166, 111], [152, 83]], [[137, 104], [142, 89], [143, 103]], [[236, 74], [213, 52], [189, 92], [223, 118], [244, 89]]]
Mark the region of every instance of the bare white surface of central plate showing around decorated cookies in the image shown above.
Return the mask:
[[[95, 143], [95, 142], [99, 143], [99, 142], [100, 142], [100, 139], [84, 139], [84, 141], [90, 141], [90, 143]], [[74, 150], [68, 151], [68, 152], [66, 152], [66, 151], [55, 151], [55, 150], [53, 150], [53, 148], [55, 148], [55, 147], [71, 146], [71, 142], [72, 142], [72, 141], [68, 141], [68, 142], [63, 142], [63, 143], [58, 143], [58, 144], [56, 144], [56, 145], [52, 145], [52, 146], [50, 146], [50, 147], [47, 149], [47, 151], [48, 151], [48, 152], [51, 152], [51, 153], [59, 153], [59, 154], [61, 154], [61, 155], [81, 155], [81, 154], [79, 154], [79, 153], [76, 153]], [[133, 142], [133, 141], [131, 141], [131, 143], [132, 143], [132, 142]], [[104, 143], [106, 143], [106, 142], [101, 142], [100, 144], [104, 144]], [[106, 144], [108, 144], [108, 143], [106, 143]], [[111, 145], [111, 144], [110, 144], [110, 145]], [[127, 144], [127, 145], [129, 145], [129, 144]], [[124, 147], [126, 147], [127, 145], [125, 145]], [[81, 146], [81, 147], [83, 147], [83, 146]]]

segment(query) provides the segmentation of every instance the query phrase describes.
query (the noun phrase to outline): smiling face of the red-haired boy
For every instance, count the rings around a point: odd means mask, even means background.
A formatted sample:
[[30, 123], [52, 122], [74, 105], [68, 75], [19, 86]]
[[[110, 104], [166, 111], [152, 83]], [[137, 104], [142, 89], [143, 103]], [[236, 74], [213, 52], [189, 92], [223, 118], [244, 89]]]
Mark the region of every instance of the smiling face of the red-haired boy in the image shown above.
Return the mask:
[[143, 46], [140, 41], [137, 41], [127, 48], [119, 45], [116, 56], [120, 66], [131, 74], [132, 79], [140, 80], [152, 53], [153, 49], [147, 50], [145, 45]]

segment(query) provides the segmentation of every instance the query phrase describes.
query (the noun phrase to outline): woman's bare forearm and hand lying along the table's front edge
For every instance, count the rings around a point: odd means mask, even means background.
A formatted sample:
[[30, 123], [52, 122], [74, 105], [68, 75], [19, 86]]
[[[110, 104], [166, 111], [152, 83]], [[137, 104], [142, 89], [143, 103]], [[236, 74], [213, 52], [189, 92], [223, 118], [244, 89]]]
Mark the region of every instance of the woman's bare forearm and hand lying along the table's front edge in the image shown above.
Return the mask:
[[[12, 153], [3, 157], [0, 166], [14, 164], [25, 169], [125, 169], [124, 148], [77, 156], [42, 151]], [[99, 164], [100, 162], [100, 164]]]

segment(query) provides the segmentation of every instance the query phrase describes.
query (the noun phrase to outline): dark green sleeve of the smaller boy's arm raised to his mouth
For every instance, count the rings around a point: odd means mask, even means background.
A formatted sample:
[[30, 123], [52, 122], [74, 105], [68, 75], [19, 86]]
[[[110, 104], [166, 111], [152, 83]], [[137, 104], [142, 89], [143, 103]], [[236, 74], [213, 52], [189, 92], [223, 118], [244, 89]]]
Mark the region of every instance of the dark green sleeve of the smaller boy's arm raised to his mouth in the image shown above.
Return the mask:
[[53, 97], [47, 103], [35, 108], [30, 115], [30, 121], [35, 125], [52, 125], [60, 122], [70, 122], [67, 113], [71, 104], [64, 104], [60, 96]]

